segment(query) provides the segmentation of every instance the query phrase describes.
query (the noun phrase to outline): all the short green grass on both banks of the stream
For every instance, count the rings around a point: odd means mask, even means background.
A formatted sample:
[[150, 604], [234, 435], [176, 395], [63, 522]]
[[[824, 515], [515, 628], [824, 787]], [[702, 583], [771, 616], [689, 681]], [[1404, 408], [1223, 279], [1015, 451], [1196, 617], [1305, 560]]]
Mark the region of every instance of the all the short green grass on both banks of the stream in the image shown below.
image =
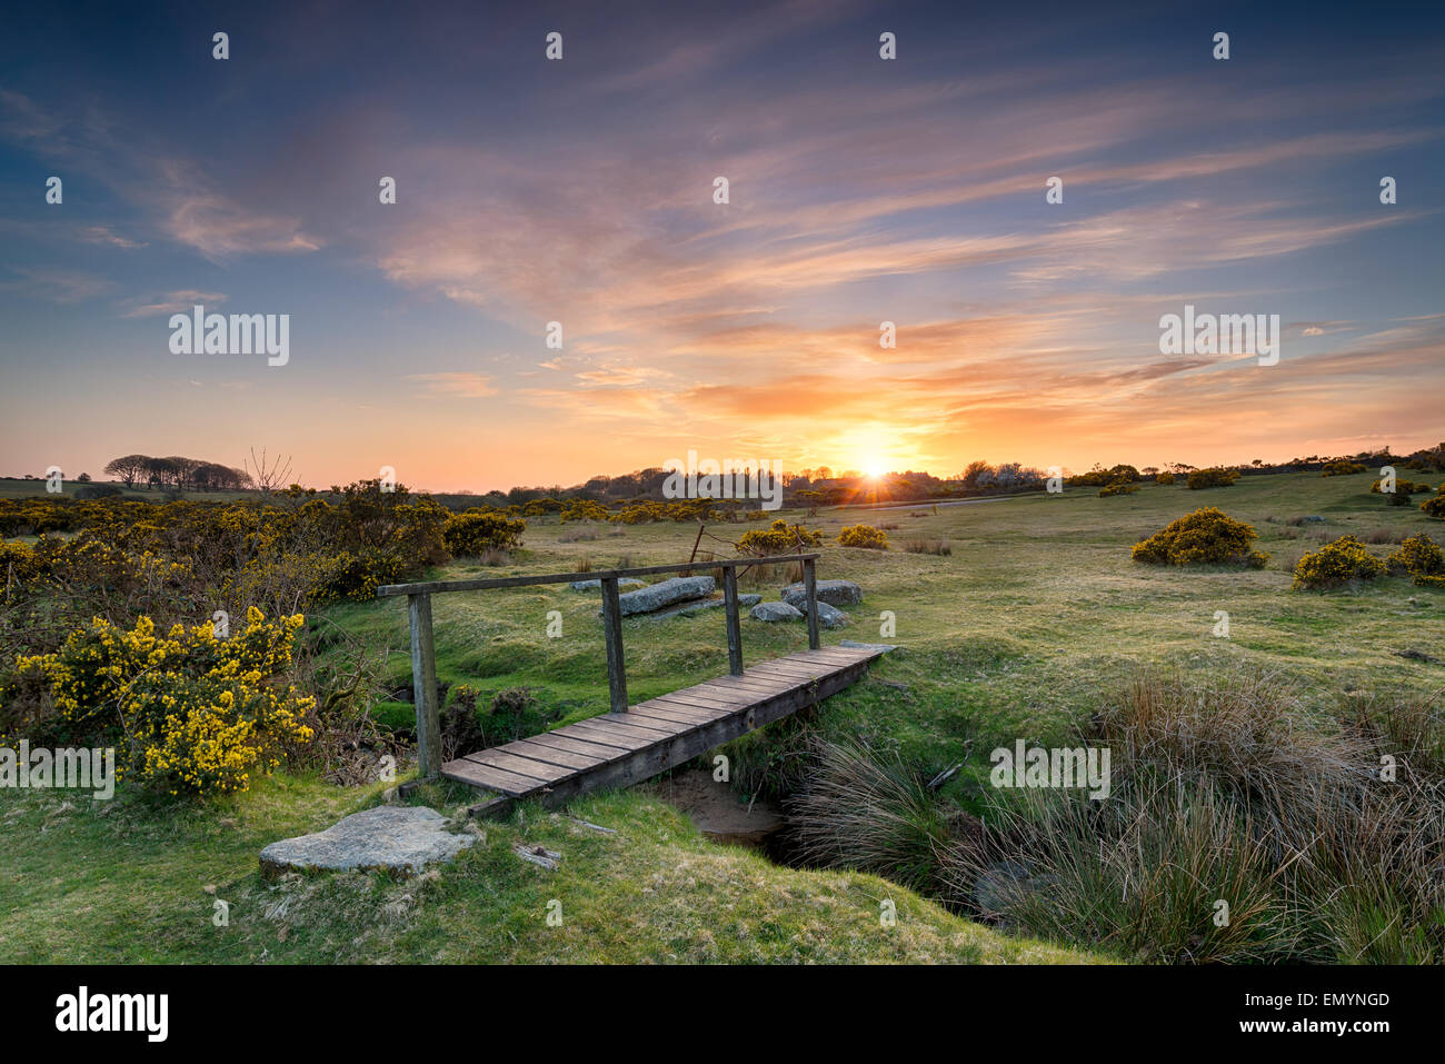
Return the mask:
[[[1368, 494], [1373, 474], [1246, 477], [1227, 489], [1146, 486], [1098, 499], [1092, 490], [887, 513], [825, 510], [806, 519], [825, 532], [819, 578], [855, 580], [864, 603], [850, 627], [824, 642], [877, 642], [879, 614], [896, 616], [903, 646], [868, 679], [828, 700], [816, 724], [835, 737], [866, 734], [918, 765], [942, 769], [967, 758], [951, 782], [965, 792], [987, 776], [993, 746], [1051, 743], [1072, 734], [1140, 666], [1188, 675], [1225, 664], [1282, 674], [1319, 711], [1347, 692], [1428, 692], [1445, 668], [1396, 651], [1436, 653], [1445, 645], [1445, 591], [1384, 578], [1358, 590], [1290, 591], [1290, 567], [1325, 538], [1445, 526], [1415, 507]], [[1272, 554], [1257, 571], [1185, 571], [1130, 561], [1146, 535], [1199, 506], [1220, 506], [1254, 525]], [[1319, 515], [1324, 525], [1283, 523]], [[796, 513], [788, 515], [798, 519]], [[1274, 516], [1280, 523], [1270, 523]], [[845, 525], [896, 522], [890, 551], [845, 549]], [[730, 539], [749, 525], [715, 525]], [[526, 549], [510, 565], [455, 564], [436, 577], [566, 571], [685, 561], [695, 528], [598, 528], [598, 539], [561, 542], [575, 525], [529, 522]], [[1289, 538], [1289, 536], [1298, 538]], [[949, 555], [907, 554], [907, 539], [946, 539]], [[712, 544], [720, 554], [727, 548]], [[1392, 546], [1373, 546], [1384, 555]], [[704, 567], [699, 567], [704, 568]], [[743, 590], [773, 598], [782, 580]], [[532, 687], [559, 723], [607, 708], [605, 659], [595, 593], [565, 585], [434, 597], [442, 682], [484, 692]], [[561, 639], [546, 635], [561, 610]], [[1231, 638], [1211, 635], [1230, 613]], [[409, 687], [405, 600], [353, 603], [328, 619], [374, 646], [389, 646], [389, 679]], [[721, 612], [624, 620], [634, 701], [718, 675], [727, 668]], [[806, 646], [802, 625], [744, 619], [744, 653], [763, 661]], [[884, 682], [887, 681], [887, 682]], [[906, 687], [902, 690], [899, 685]], [[393, 703], [392, 718], [406, 707]], [[763, 740], [766, 742], [766, 739]], [[756, 745], [756, 740], [754, 740]], [[442, 801], [457, 808], [462, 795]], [[88, 799], [58, 812], [62, 798], [0, 794], [0, 960], [179, 961], [892, 961], [1084, 960], [1088, 954], [1010, 940], [874, 876], [799, 872], [757, 854], [720, 849], [676, 811], [644, 792], [591, 797], [577, 815], [618, 828], [601, 836], [525, 808], [483, 825], [478, 843], [423, 880], [319, 876], [266, 883], [257, 851], [269, 841], [319, 830], [377, 801], [377, 788], [345, 791], [279, 776], [253, 794], [211, 807], [121, 804], [98, 815]], [[564, 853], [546, 872], [517, 860], [514, 841]], [[211, 924], [211, 896], [233, 902], [231, 925]], [[562, 902], [564, 925], [545, 924]], [[879, 925], [893, 898], [896, 928]]]

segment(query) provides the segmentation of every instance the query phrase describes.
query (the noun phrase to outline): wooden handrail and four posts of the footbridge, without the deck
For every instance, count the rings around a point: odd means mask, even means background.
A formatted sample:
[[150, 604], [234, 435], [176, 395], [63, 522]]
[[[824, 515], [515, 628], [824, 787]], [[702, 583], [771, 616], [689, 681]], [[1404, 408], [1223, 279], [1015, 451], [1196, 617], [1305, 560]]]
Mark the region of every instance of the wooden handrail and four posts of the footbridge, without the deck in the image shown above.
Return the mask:
[[436, 775], [442, 760], [441, 707], [436, 701], [436, 648], [432, 635], [432, 596], [447, 591], [490, 591], [503, 587], [566, 584], [598, 580], [603, 590], [603, 635], [607, 639], [607, 687], [613, 713], [627, 711], [627, 669], [623, 661], [623, 607], [617, 581], [624, 577], [650, 577], [662, 572], [722, 570], [722, 612], [727, 626], [728, 671], [743, 675], [743, 627], [737, 607], [737, 571], [751, 565], [802, 562], [803, 593], [808, 598], [808, 646], [819, 648], [816, 554], [783, 554], [772, 558], [722, 558], [679, 565], [643, 565], [600, 572], [545, 572], [535, 577], [494, 577], [488, 580], [434, 580], [419, 584], [383, 584], [379, 598], [406, 596], [412, 629], [412, 694], [416, 704], [416, 760], [422, 776]]

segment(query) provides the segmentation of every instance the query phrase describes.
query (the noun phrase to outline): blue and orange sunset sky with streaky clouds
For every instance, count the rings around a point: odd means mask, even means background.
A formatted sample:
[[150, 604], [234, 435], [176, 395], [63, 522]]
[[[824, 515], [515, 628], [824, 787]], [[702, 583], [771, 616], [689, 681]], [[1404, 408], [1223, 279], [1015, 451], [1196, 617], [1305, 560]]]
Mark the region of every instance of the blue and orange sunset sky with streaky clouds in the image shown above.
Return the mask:
[[[1445, 439], [1438, 3], [126, 7], [6, 14], [0, 474]], [[286, 363], [173, 353], [195, 304], [289, 315]], [[1185, 305], [1277, 314], [1277, 364], [1160, 354]]]

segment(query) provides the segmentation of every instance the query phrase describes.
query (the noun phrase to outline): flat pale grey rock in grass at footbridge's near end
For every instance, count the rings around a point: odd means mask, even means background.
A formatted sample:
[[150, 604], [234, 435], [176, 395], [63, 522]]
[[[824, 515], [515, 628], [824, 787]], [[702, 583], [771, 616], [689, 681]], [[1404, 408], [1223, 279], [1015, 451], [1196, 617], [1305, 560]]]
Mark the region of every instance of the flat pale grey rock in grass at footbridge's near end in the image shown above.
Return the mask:
[[425, 805], [379, 805], [353, 812], [325, 831], [282, 838], [262, 850], [262, 872], [366, 870], [410, 875], [451, 860], [477, 841], [452, 834], [447, 817]]

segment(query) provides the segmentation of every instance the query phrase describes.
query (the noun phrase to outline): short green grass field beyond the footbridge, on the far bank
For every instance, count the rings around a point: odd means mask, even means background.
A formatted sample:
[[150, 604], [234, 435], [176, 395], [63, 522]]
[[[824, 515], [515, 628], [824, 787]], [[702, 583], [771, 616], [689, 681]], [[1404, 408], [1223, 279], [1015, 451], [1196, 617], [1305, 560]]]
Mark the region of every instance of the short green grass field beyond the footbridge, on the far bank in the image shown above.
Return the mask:
[[[1202, 492], [1150, 484], [1136, 494], [1098, 499], [1077, 489], [941, 506], [916, 518], [909, 509], [802, 518], [827, 533], [819, 578], [850, 578], [864, 588], [863, 604], [845, 610], [851, 625], [825, 632], [824, 643], [858, 639], [905, 648], [877, 665], [868, 681], [831, 698], [822, 723], [828, 730], [883, 736], [909, 759], [942, 768], [998, 740], [1023, 736], [1048, 743], [1068, 736], [1097, 708], [1101, 690], [1121, 685], [1140, 665], [1189, 672], [1253, 662], [1283, 672], [1322, 708], [1350, 691], [1439, 687], [1445, 668], [1394, 652], [1429, 652], [1445, 642], [1445, 593], [1393, 577], [1354, 591], [1289, 590], [1293, 562], [1318, 546], [1311, 538], [1316, 533], [1332, 539], [1384, 528], [1445, 539], [1445, 523], [1413, 507], [1386, 506], [1368, 493], [1371, 480], [1370, 474], [1257, 476]], [[1269, 564], [1257, 571], [1198, 571], [1130, 561], [1136, 541], [1199, 506], [1220, 506], [1253, 523], [1259, 548], [1272, 555]], [[1327, 520], [1285, 523], [1305, 515]], [[1272, 516], [1277, 523], [1266, 520]], [[900, 525], [889, 532], [893, 549], [832, 542], [845, 525], [879, 520]], [[594, 568], [613, 567], [623, 555], [633, 565], [676, 562], [686, 559], [696, 535], [686, 525], [657, 523], [626, 528], [620, 536], [603, 528], [597, 541], [559, 542], [561, 533], [577, 528], [555, 519], [530, 522], [516, 564], [452, 565], [435, 575], [566, 571], [584, 557]], [[747, 528], [709, 531], [736, 539]], [[905, 552], [900, 545], [915, 538], [946, 539], [952, 554]], [[720, 555], [728, 552], [712, 546]], [[1384, 557], [1394, 548], [1370, 549]], [[782, 580], [751, 585], [744, 577], [741, 584], [776, 598]], [[607, 672], [598, 601], [595, 593], [565, 585], [435, 596], [438, 677], [486, 692], [533, 687], [562, 721], [601, 713]], [[561, 639], [546, 636], [549, 610], [562, 613]], [[880, 636], [884, 610], [896, 617], [892, 639]], [[1212, 635], [1218, 610], [1230, 614], [1228, 639]], [[393, 648], [389, 677], [397, 688], [409, 685], [403, 600], [348, 604], [331, 616], [374, 645]], [[721, 612], [629, 617], [623, 632], [633, 701], [727, 668]], [[754, 662], [805, 648], [806, 632], [802, 625], [744, 617], [743, 642], [744, 659]]]

